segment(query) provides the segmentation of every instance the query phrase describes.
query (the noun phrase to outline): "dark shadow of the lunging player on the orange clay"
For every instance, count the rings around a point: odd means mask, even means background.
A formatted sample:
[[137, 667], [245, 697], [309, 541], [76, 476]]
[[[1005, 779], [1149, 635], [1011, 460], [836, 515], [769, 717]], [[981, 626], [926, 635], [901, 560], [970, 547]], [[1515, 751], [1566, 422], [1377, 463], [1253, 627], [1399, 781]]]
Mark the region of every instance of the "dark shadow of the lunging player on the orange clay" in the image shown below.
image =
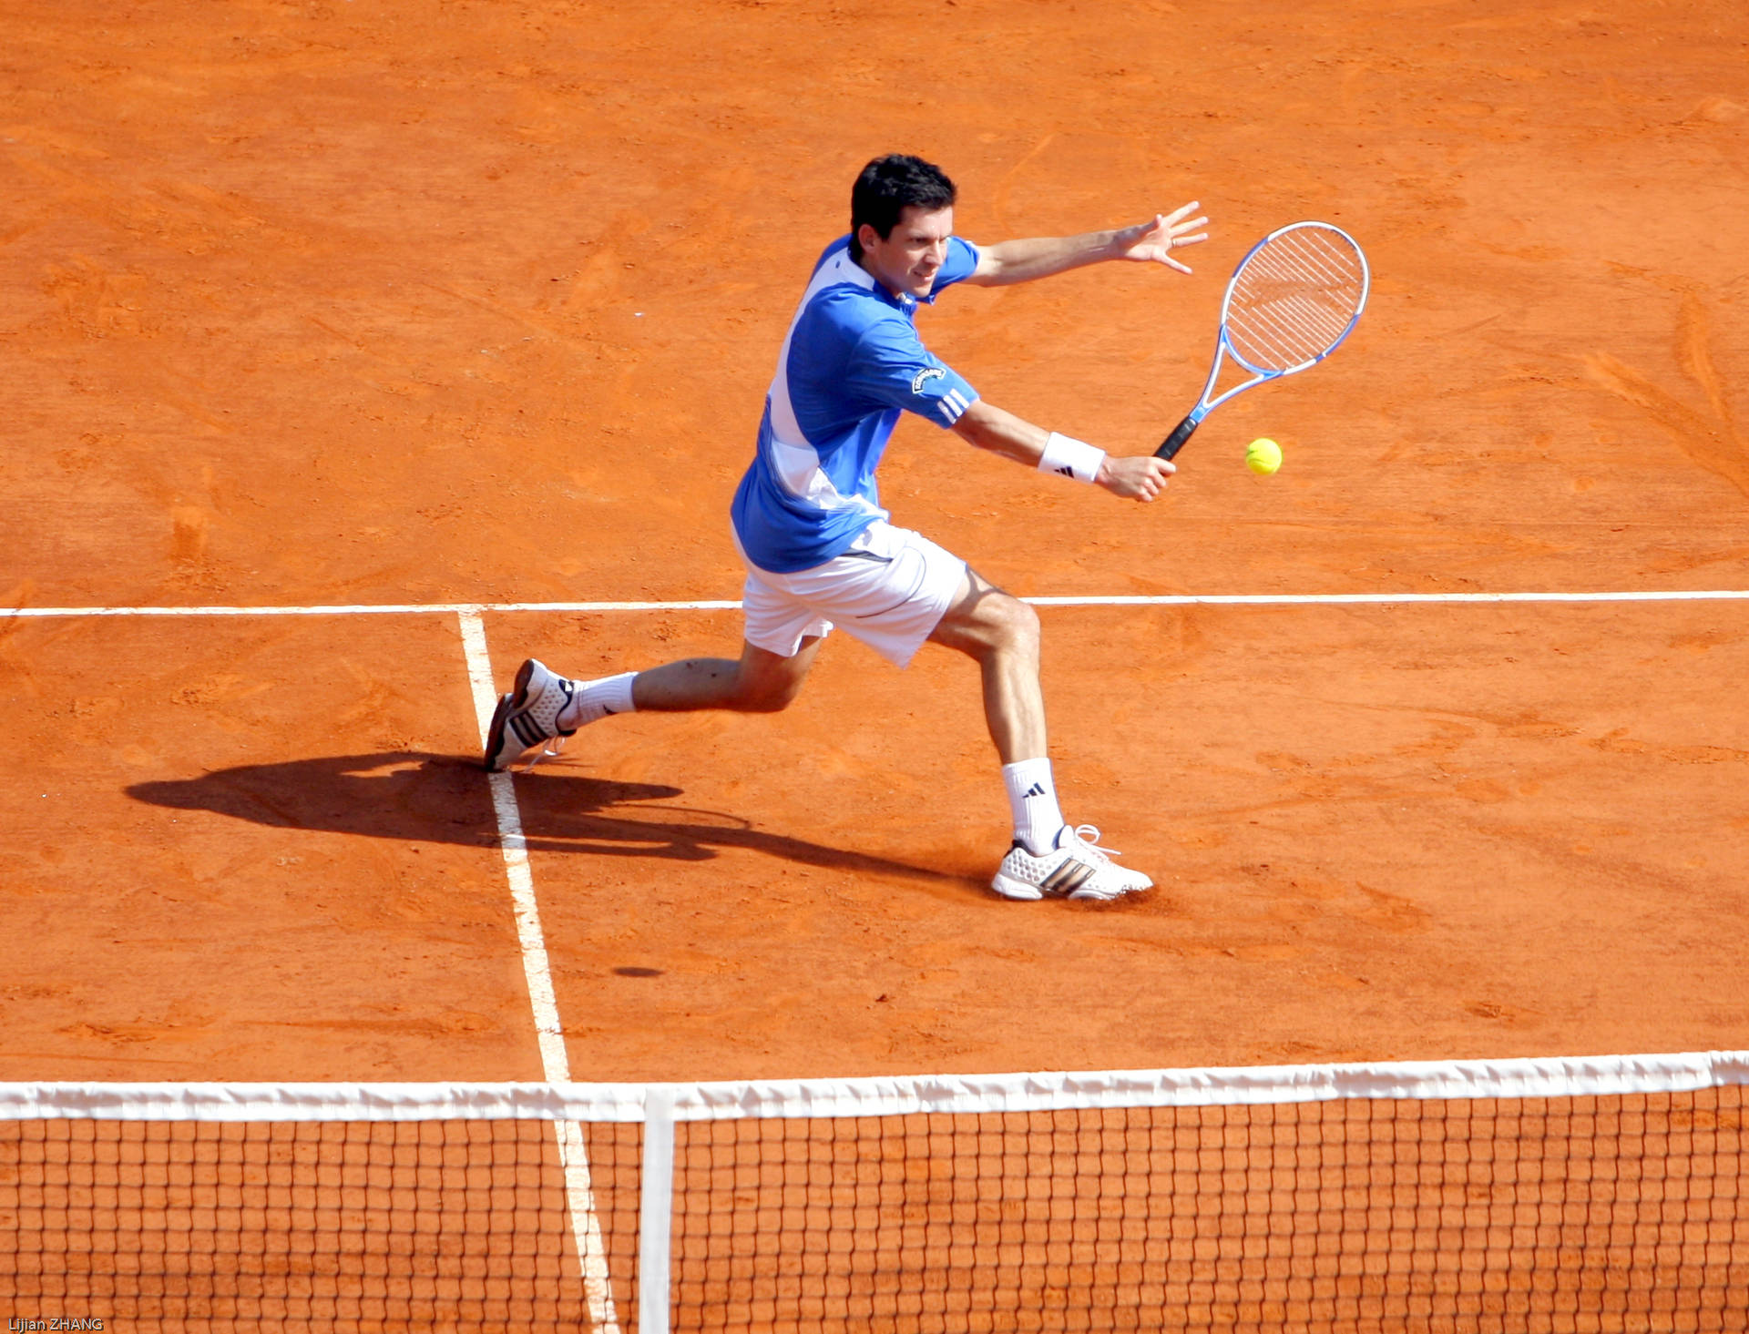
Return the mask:
[[[129, 797], [185, 811], [213, 811], [278, 829], [310, 829], [406, 843], [498, 846], [498, 822], [479, 762], [388, 750], [280, 764], [240, 764], [199, 778], [133, 783]], [[747, 848], [803, 865], [901, 876], [941, 885], [960, 876], [887, 857], [766, 834], [722, 811], [677, 804], [677, 787], [614, 783], [554, 766], [518, 780], [516, 802], [530, 851], [705, 862], [719, 848]]]

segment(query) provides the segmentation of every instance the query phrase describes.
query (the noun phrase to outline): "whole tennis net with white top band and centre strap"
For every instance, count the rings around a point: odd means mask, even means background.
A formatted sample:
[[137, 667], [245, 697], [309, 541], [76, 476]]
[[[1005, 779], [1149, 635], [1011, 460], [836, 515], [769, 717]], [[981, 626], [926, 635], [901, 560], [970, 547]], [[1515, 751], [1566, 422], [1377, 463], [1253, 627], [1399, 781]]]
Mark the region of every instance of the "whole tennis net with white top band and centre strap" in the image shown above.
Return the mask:
[[0, 1310], [112, 1331], [1742, 1334], [1746, 1084], [1749, 1053], [0, 1084]]

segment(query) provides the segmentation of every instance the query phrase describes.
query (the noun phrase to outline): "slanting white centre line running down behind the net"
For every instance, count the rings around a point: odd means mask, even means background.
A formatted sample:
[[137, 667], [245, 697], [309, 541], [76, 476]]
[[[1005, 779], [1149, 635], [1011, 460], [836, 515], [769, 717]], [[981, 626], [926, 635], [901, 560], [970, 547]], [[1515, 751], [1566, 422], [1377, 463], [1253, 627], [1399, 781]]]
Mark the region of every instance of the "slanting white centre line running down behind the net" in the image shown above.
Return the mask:
[[[479, 720], [479, 747], [484, 750], [486, 733], [491, 731], [491, 713], [498, 706], [498, 692], [491, 680], [491, 656], [486, 652], [486, 628], [479, 621], [479, 612], [460, 612], [456, 619], [462, 622], [462, 652], [467, 656], [474, 717]], [[535, 1012], [540, 1070], [547, 1084], [568, 1084], [570, 1060], [565, 1054], [565, 1030], [558, 1019], [553, 970], [547, 963], [546, 935], [540, 930], [535, 879], [528, 869], [528, 841], [523, 837], [516, 783], [507, 773], [491, 773], [486, 775], [486, 780], [491, 783], [491, 809], [498, 820], [504, 874], [511, 881], [511, 900], [516, 904], [516, 941], [523, 951], [528, 1004]], [[595, 1187], [589, 1182], [589, 1156], [582, 1143], [582, 1128], [575, 1121], [554, 1121], [553, 1133], [558, 1140], [560, 1166], [565, 1170], [565, 1199], [570, 1208], [577, 1257], [582, 1264], [589, 1327], [600, 1334], [619, 1334], [619, 1315], [614, 1310], [614, 1289], [607, 1278], [607, 1248], [602, 1245], [602, 1222], [595, 1212]]]

